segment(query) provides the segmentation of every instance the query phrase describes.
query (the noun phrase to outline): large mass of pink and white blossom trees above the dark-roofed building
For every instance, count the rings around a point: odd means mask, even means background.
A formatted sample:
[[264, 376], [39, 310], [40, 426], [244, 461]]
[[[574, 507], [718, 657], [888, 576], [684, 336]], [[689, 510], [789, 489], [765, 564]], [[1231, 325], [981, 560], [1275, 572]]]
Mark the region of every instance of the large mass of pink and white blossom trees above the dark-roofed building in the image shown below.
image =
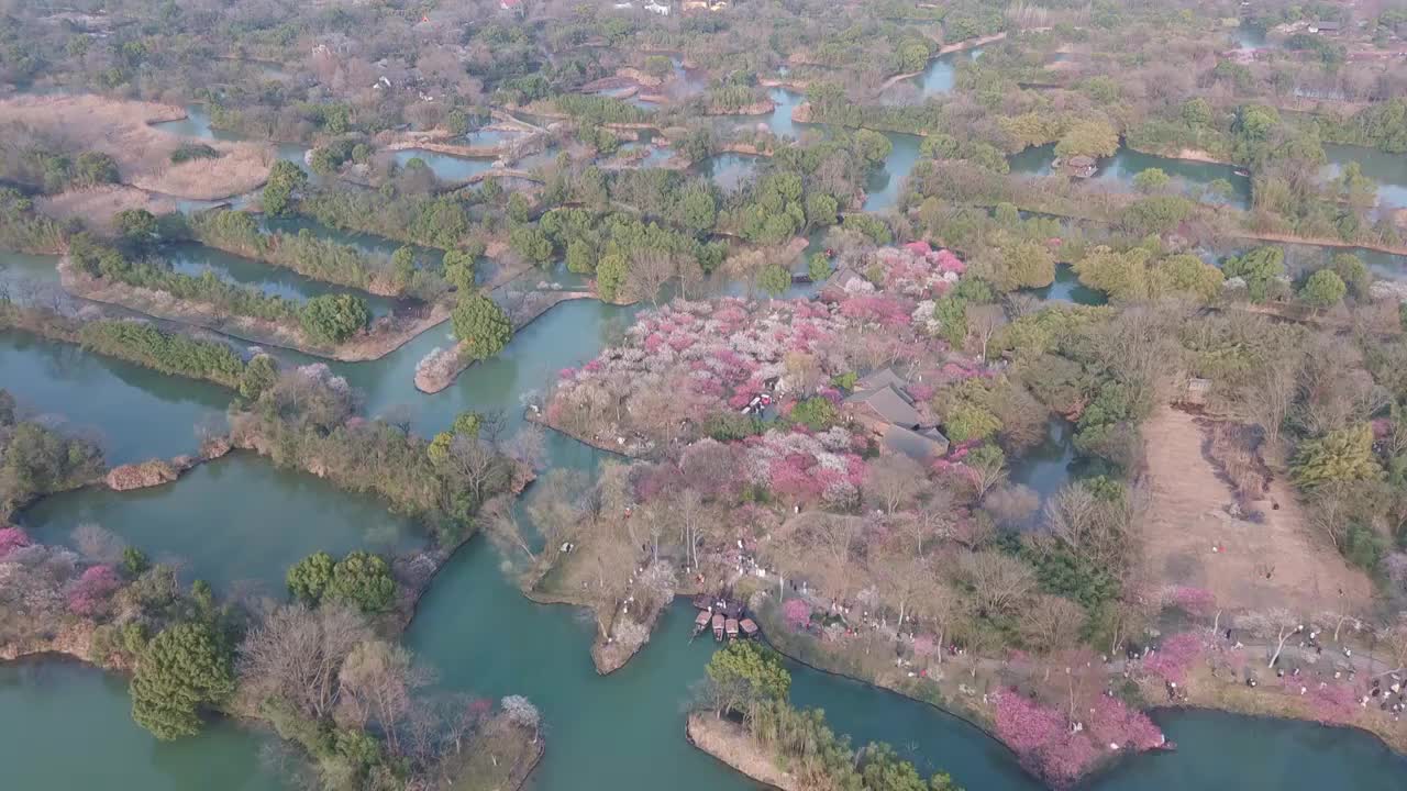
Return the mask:
[[[951, 252], [924, 248], [878, 251], [865, 272], [870, 279], [830, 289], [822, 300], [675, 300], [647, 311], [626, 331], [622, 346], [560, 373], [546, 421], [559, 428], [644, 434], [642, 424], [658, 417], [657, 405], [678, 421], [699, 421], [756, 405], [770, 383], [778, 383], [779, 398], [820, 394], [839, 400], [826, 387], [832, 376], [868, 370], [872, 360], [941, 353], [941, 343], [915, 331], [927, 321], [915, 321], [916, 310], [951, 287], [964, 267]], [[798, 357], [813, 367], [816, 381], [788, 379]], [[667, 401], [661, 394], [668, 394]], [[827, 477], [820, 488], [836, 484]]]

